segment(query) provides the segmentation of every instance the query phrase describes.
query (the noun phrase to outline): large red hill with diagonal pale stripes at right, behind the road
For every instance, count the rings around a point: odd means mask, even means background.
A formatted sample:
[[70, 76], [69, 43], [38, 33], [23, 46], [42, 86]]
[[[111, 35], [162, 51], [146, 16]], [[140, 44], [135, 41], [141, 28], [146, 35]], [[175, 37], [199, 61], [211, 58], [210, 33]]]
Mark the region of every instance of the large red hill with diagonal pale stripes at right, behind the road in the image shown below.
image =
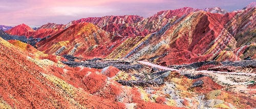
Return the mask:
[[[107, 58], [146, 59], [161, 65], [255, 59], [254, 18], [255, 7], [226, 14], [191, 12], [141, 40], [127, 39]], [[125, 46], [129, 48], [121, 50]]]

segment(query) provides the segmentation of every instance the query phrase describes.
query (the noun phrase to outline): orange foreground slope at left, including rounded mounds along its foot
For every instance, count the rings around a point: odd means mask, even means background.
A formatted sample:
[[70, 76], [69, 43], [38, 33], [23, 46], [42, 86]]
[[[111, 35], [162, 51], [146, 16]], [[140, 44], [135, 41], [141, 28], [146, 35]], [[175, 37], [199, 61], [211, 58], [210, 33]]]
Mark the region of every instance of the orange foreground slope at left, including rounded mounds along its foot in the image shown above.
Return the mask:
[[0, 38], [1, 108], [178, 108], [145, 102], [138, 88], [124, 87], [100, 70], [71, 68], [26, 43], [10, 42]]

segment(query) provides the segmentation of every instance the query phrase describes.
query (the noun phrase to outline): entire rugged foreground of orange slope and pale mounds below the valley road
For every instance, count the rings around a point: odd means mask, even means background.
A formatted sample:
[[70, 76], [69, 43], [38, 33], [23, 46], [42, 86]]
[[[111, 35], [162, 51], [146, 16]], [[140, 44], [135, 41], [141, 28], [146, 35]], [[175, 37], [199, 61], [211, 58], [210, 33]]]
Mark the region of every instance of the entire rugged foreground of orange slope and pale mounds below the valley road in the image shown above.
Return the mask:
[[[182, 71], [181, 74], [124, 61], [77, 62], [82, 65], [68, 67], [60, 62], [67, 61], [62, 57], [47, 55], [29, 44], [17, 40], [7, 42], [2, 38], [0, 51], [1, 108], [255, 107], [255, 73], [251, 72], [244, 75]], [[242, 64], [244, 67], [237, 68], [253, 71], [255, 66], [250, 63], [252, 66]], [[106, 66], [94, 69], [83, 67], [83, 64]], [[232, 63], [228, 64], [232, 66]], [[221, 76], [224, 78], [219, 79]]]

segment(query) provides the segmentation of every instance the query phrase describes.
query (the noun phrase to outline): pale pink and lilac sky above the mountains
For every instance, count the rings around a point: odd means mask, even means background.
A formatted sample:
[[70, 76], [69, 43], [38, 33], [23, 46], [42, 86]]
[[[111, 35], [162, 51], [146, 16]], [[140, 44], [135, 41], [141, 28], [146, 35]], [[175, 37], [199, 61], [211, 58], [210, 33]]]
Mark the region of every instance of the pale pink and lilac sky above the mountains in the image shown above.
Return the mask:
[[161, 10], [182, 7], [221, 7], [233, 11], [246, 7], [253, 0], [1, 0], [0, 24], [42, 25], [48, 22], [66, 24], [86, 17], [106, 15], [140, 15], [149, 17]]

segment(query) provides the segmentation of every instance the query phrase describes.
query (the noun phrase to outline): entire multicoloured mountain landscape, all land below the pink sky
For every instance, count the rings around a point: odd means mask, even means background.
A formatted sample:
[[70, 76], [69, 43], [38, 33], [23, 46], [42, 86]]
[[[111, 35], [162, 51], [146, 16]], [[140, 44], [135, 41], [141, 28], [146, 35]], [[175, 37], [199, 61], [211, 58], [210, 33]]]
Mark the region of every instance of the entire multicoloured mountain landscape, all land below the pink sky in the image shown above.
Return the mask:
[[255, 108], [255, 14], [251, 3], [1, 25], [0, 107]]

